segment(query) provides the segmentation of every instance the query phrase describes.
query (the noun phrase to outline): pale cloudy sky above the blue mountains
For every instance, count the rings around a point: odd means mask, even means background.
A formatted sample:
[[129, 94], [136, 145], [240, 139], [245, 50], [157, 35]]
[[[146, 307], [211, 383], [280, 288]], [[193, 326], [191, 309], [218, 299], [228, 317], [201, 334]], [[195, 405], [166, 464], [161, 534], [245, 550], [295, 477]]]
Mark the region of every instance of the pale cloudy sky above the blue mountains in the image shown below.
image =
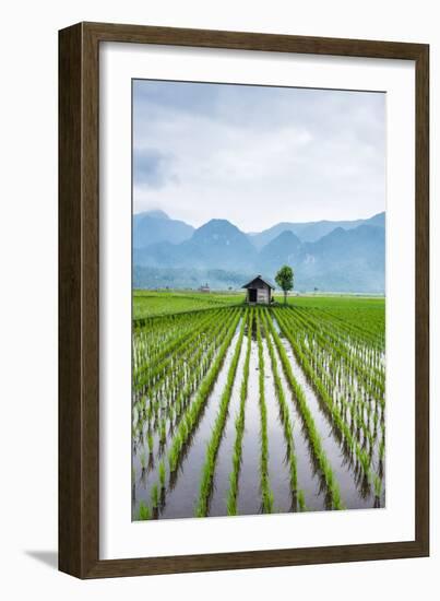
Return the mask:
[[133, 82], [133, 210], [246, 232], [385, 208], [385, 96]]

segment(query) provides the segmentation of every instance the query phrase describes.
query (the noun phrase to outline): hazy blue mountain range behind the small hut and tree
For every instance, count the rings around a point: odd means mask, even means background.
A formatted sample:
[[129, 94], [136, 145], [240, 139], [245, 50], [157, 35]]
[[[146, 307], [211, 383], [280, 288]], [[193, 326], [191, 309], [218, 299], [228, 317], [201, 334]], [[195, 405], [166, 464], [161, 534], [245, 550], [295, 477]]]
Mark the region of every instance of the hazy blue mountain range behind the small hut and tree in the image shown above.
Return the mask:
[[283, 264], [295, 290], [384, 292], [385, 214], [367, 220], [278, 223], [245, 233], [227, 220], [201, 227], [163, 211], [133, 215], [135, 287], [237, 288], [261, 273], [274, 280]]

